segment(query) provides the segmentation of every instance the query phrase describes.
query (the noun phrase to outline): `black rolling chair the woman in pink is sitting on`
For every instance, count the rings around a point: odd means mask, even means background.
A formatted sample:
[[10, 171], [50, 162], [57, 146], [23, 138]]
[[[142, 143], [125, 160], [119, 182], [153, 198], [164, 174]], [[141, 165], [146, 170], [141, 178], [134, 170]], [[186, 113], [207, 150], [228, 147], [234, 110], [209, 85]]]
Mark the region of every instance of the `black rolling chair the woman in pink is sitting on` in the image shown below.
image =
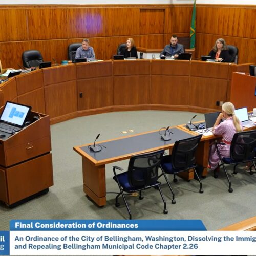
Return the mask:
[[[234, 168], [233, 168], [234, 174], [237, 174], [236, 167], [240, 163], [251, 162], [254, 168], [256, 169], [256, 165], [254, 163], [254, 161], [256, 160], [255, 159], [256, 131], [253, 130], [253, 131], [239, 132], [234, 134], [233, 139], [231, 141], [231, 145], [230, 145], [230, 157], [221, 157], [220, 151], [218, 149], [219, 144], [225, 145], [225, 143], [221, 141], [216, 143], [216, 150], [221, 161], [220, 166], [223, 166], [225, 175], [228, 180], [228, 184], [229, 184], [228, 192], [232, 193], [233, 189], [231, 188], [231, 182], [228, 177], [225, 164], [234, 165]], [[250, 168], [250, 174], [253, 174], [251, 168]], [[218, 174], [216, 170], [214, 171], [214, 177], [218, 178]]]

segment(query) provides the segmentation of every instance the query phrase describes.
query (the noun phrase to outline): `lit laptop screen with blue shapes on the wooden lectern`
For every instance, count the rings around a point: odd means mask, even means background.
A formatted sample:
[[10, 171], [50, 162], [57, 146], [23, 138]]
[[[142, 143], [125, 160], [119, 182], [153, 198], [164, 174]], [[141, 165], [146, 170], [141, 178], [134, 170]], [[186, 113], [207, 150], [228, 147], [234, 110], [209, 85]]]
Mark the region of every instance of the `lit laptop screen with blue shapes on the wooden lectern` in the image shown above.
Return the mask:
[[18, 127], [23, 127], [30, 110], [31, 106], [7, 101], [0, 120], [2, 122], [8, 122]]

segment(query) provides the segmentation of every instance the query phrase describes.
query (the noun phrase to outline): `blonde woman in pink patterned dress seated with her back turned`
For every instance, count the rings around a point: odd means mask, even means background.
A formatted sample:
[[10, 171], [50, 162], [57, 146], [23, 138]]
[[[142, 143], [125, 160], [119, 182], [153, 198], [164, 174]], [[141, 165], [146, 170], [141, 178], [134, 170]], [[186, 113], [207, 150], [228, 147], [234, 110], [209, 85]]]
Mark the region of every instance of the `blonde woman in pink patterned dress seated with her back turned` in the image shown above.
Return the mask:
[[[225, 119], [221, 122], [222, 119]], [[218, 150], [221, 157], [230, 157], [230, 144], [235, 133], [241, 132], [243, 126], [239, 118], [234, 114], [234, 105], [231, 102], [225, 102], [222, 105], [222, 112], [216, 119], [212, 133], [214, 135], [222, 135], [222, 142], [218, 144]], [[211, 170], [219, 170], [219, 156], [216, 145], [211, 145], [209, 153], [209, 168]]]

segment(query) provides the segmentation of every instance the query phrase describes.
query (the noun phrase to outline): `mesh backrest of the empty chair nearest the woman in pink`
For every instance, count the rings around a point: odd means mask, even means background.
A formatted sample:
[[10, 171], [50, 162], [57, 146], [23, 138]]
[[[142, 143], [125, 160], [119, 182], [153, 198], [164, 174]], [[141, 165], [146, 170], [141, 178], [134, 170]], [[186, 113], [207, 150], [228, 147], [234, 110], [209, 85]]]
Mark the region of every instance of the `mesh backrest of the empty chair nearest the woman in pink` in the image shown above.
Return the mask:
[[195, 152], [201, 137], [202, 134], [175, 142], [172, 152], [172, 165], [175, 169], [187, 169], [195, 164]]

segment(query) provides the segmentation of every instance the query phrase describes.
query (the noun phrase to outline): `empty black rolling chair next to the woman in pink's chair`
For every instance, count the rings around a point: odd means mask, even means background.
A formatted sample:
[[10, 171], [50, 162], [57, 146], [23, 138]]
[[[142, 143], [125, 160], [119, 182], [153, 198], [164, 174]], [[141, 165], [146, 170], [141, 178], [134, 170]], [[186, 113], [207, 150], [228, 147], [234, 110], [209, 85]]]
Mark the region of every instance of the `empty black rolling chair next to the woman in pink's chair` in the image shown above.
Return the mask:
[[178, 180], [176, 179], [176, 175], [178, 173], [188, 171], [189, 169], [194, 169], [197, 180], [200, 183], [199, 192], [204, 192], [204, 190], [202, 189], [202, 182], [197, 174], [196, 167], [198, 166], [196, 164], [195, 158], [195, 152], [197, 150], [201, 137], [202, 134], [188, 139], [177, 140], [174, 144], [172, 155], [164, 156], [162, 159], [160, 165], [162, 169], [162, 174], [159, 175], [159, 177], [161, 177], [162, 175], [164, 176], [169, 186], [169, 189], [173, 194], [172, 204], [176, 203], [175, 194], [169, 180], [166, 177], [166, 174], [174, 175], [173, 181], [177, 182]]

